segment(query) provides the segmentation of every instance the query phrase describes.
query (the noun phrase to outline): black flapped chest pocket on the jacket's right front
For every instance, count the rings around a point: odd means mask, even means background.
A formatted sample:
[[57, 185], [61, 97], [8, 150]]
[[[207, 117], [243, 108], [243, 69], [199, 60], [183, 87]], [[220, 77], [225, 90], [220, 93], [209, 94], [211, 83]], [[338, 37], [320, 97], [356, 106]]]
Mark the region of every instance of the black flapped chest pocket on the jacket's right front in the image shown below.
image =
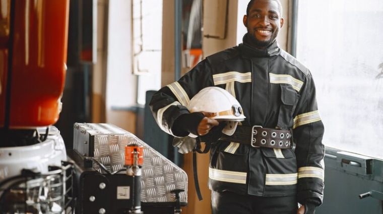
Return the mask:
[[293, 113], [300, 95], [290, 86], [281, 84], [281, 105], [278, 114], [278, 126], [288, 129], [293, 126]]

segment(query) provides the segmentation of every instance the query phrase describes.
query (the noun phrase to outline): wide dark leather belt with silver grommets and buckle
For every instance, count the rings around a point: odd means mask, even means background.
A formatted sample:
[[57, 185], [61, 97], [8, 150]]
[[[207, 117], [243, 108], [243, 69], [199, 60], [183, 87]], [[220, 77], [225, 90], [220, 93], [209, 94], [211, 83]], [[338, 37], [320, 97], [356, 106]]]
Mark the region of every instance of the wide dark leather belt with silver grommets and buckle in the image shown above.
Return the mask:
[[252, 147], [292, 148], [290, 130], [269, 129], [262, 126], [237, 126], [232, 136], [224, 135], [219, 140], [248, 144]]

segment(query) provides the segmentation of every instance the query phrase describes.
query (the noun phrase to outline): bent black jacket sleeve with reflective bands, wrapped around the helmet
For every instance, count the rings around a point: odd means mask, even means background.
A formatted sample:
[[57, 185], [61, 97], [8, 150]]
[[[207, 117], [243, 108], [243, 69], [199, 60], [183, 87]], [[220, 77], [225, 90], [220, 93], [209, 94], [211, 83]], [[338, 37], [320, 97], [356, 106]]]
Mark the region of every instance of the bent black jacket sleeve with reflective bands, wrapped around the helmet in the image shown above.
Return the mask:
[[149, 103], [158, 126], [175, 137], [188, 135], [186, 130], [174, 132], [174, 121], [183, 114], [189, 114], [186, 106], [195, 94], [213, 85], [210, 64], [203, 60], [178, 81], [161, 88]]

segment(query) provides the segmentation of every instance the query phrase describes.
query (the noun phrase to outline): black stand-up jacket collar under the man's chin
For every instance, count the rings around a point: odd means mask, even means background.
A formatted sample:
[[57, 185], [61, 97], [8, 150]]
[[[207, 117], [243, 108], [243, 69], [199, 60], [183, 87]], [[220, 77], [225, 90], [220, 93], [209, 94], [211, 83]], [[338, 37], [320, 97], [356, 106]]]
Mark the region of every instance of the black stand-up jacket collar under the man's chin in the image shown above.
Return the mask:
[[241, 54], [244, 58], [254, 58], [254, 57], [274, 57], [279, 55], [281, 48], [278, 45], [277, 40], [275, 40], [269, 47], [266, 49], [258, 49], [250, 46], [247, 41], [247, 33], [243, 36], [243, 43], [239, 44]]

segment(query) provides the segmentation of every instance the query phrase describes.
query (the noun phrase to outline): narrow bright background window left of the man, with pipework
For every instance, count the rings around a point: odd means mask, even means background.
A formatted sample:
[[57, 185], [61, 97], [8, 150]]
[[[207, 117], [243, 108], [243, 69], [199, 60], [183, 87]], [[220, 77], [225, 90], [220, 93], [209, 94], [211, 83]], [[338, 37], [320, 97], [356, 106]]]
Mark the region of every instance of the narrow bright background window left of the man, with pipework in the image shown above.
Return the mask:
[[[138, 75], [137, 102], [161, 87], [162, 1], [133, 1], [133, 70]], [[127, 41], [129, 42], [129, 41]]]

